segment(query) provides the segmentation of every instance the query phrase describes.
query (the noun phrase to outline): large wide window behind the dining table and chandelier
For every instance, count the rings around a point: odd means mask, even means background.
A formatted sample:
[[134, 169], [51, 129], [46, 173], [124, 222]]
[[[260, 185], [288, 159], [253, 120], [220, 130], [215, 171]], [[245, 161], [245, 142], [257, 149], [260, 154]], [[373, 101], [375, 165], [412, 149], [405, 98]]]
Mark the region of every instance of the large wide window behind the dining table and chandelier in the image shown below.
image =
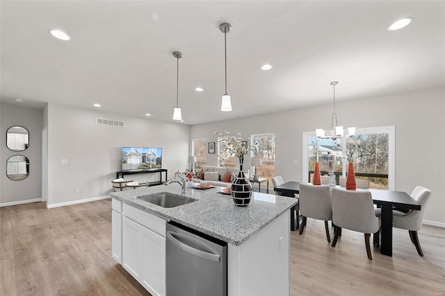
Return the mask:
[[357, 128], [355, 137], [338, 139], [337, 143], [341, 147], [331, 139], [317, 139], [315, 132], [303, 133], [303, 147], [307, 147], [303, 149], [303, 182], [309, 182], [317, 150], [320, 171], [327, 174], [327, 161], [335, 155], [334, 172], [345, 177], [348, 162], [342, 151], [345, 150], [354, 160], [356, 177], [369, 179], [371, 188], [394, 190], [394, 126]]

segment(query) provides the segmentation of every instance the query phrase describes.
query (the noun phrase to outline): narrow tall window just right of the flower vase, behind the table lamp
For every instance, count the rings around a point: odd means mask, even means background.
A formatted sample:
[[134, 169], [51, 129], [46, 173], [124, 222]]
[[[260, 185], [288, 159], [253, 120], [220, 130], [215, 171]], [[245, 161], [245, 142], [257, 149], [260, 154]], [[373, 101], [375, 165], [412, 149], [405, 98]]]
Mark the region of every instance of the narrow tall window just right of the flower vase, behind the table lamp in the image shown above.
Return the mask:
[[[255, 147], [251, 157], [261, 157], [261, 166], [257, 166], [259, 177], [269, 179], [272, 184], [272, 177], [275, 176], [275, 134], [252, 134], [250, 145]], [[253, 176], [253, 171], [250, 174]]]

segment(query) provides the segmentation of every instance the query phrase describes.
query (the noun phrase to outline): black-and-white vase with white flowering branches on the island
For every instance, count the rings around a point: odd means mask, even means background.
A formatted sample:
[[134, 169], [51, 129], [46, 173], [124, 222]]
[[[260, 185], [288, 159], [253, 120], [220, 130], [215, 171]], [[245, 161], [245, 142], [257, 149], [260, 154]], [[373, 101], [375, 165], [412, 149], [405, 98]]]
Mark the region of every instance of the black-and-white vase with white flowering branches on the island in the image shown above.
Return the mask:
[[215, 132], [215, 134], [222, 136], [220, 139], [220, 157], [236, 157], [239, 160], [239, 173], [232, 182], [231, 191], [236, 206], [245, 207], [250, 203], [252, 185], [249, 179], [245, 177], [243, 163], [245, 155], [253, 149], [248, 146], [248, 141], [243, 140], [239, 132], [236, 136], [232, 136], [227, 130], [224, 133]]

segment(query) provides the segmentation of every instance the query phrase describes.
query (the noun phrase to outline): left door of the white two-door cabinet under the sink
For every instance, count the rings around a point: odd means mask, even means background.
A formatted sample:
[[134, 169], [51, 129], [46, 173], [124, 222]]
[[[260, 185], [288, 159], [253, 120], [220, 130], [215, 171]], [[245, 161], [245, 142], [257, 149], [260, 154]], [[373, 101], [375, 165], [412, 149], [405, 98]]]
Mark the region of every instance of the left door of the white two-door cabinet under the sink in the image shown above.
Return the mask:
[[140, 282], [143, 268], [143, 232], [145, 227], [122, 217], [122, 266]]

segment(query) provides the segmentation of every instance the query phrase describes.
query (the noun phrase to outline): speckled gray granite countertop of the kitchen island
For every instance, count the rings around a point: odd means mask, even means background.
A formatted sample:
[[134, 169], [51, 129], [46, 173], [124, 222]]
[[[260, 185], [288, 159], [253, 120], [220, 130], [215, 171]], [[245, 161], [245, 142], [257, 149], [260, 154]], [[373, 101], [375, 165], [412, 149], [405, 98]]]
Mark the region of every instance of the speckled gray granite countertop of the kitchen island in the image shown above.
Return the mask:
[[254, 192], [247, 207], [236, 207], [231, 195], [219, 191], [220, 187], [187, 188], [185, 196], [197, 201], [172, 208], [159, 207], [138, 197], [160, 192], [180, 195], [181, 186], [177, 183], [113, 192], [111, 197], [232, 245], [241, 245], [298, 202], [295, 198]]

